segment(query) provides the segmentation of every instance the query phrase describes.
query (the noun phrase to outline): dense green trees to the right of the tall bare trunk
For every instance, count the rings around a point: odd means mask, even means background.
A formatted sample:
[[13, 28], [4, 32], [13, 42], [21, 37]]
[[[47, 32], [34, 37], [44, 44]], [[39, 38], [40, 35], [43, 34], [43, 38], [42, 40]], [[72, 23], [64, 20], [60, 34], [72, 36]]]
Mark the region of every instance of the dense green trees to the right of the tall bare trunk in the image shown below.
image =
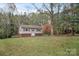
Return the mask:
[[[58, 16], [59, 17], [58, 17]], [[57, 19], [56, 19], [57, 17]], [[79, 4], [70, 3], [63, 7], [63, 11], [55, 14], [56, 34], [79, 34]], [[56, 21], [57, 20], [57, 21]]]

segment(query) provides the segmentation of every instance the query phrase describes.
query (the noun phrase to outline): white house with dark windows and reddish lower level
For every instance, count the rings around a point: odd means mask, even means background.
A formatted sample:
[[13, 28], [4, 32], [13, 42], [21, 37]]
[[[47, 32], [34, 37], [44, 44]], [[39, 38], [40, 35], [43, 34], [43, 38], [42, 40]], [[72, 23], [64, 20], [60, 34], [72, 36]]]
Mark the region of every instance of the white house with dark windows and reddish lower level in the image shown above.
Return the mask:
[[37, 36], [42, 35], [42, 26], [38, 25], [21, 25], [19, 27], [19, 35], [24, 36]]

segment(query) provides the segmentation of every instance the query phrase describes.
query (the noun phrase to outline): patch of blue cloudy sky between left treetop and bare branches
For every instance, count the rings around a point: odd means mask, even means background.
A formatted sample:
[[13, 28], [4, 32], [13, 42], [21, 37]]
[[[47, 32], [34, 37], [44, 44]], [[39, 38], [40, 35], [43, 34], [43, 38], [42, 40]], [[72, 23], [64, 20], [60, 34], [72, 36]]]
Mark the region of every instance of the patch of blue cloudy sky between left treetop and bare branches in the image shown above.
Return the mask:
[[[41, 4], [36, 4], [39, 8], [41, 8]], [[19, 11], [26, 11], [28, 12], [36, 12], [36, 8], [31, 3], [18, 3], [16, 7]]]

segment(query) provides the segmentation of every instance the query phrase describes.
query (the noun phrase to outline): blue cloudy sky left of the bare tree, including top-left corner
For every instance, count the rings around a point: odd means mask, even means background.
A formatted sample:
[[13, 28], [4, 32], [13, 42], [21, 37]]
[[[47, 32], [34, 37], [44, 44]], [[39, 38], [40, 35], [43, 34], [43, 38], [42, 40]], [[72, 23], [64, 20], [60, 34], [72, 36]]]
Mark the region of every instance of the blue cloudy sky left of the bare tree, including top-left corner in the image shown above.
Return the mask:
[[[19, 13], [30, 13], [30, 12], [37, 12], [36, 8], [31, 3], [15, 3], [16, 8]], [[36, 4], [39, 8], [41, 8], [41, 4]], [[6, 3], [0, 3], [0, 8], [5, 8]]]

